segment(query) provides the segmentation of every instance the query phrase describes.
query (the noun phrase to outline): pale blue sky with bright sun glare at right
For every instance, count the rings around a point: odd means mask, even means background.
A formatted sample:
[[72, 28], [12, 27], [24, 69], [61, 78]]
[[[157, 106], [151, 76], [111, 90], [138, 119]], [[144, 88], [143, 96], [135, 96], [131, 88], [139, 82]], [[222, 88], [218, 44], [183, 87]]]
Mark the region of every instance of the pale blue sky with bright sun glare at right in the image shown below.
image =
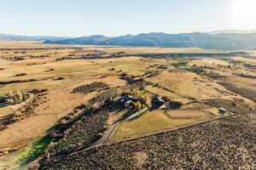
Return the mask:
[[256, 30], [256, 0], [0, 0], [0, 32], [120, 36]]

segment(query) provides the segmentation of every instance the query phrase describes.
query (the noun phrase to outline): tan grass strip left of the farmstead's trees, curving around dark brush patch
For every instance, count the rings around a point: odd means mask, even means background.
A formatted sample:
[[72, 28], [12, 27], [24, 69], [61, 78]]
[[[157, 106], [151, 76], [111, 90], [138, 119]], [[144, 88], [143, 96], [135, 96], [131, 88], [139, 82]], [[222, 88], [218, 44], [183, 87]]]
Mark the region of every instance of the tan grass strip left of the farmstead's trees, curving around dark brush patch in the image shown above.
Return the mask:
[[[74, 107], [86, 104], [89, 99], [96, 96], [96, 92], [90, 94], [72, 94], [71, 92], [73, 88], [96, 81], [106, 82], [110, 87], [125, 85], [125, 81], [114, 76], [101, 79], [90, 77], [79, 83], [69, 82], [68, 84], [62, 82], [61, 85], [65, 86], [65, 88], [49, 91], [45, 96], [45, 102], [39, 103], [39, 106], [34, 109], [35, 115], [9, 125], [7, 129], [1, 131], [0, 149], [1, 147], [18, 147], [23, 144], [29, 144], [29, 142], [59, 121], [62, 116], [67, 116], [68, 113], [72, 112]], [[42, 86], [44, 88], [44, 85]]]

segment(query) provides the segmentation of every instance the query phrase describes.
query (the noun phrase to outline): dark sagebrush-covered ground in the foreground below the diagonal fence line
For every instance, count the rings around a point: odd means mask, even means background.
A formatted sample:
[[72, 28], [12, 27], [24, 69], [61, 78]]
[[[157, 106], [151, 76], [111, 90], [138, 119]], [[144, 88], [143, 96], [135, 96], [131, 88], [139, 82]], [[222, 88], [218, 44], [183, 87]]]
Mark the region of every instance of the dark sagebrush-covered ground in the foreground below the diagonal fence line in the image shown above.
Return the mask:
[[254, 114], [104, 145], [41, 169], [253, 169]]

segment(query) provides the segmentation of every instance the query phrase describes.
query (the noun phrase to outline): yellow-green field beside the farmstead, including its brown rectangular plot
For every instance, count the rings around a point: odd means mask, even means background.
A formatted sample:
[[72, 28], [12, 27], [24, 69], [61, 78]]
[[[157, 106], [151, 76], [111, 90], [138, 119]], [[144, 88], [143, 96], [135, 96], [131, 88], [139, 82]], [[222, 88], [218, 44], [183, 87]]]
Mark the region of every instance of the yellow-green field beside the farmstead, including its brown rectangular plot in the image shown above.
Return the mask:
[[160, 110], [150, 111], [138, 117], [136, 120], [120, 123], [108, 142], [111, 143], [113, 141], [134, 139], [148, 134], [160, 133], [178, 127], [188, 126], [196, 122], [211, 120], [212, 117], [204, 111], [195, 109], [169, 111], [166, 114]]

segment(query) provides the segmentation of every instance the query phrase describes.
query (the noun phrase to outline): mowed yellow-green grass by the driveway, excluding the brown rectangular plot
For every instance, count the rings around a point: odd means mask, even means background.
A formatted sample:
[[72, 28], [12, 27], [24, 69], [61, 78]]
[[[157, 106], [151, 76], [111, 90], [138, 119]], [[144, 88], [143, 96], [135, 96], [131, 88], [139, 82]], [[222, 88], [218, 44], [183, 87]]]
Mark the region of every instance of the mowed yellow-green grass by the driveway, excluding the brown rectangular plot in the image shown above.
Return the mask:
[[207, 121], [208, 119], [209, 117], [207, 116], [195, 116], [190, 119], [171, 119], [169, 116], [166, 116], [164, 111], [150, 111], [131, 122], [121, 122], [108, 142], [112, 143], [123, 139], [133, 139], [160, 133], [166, 130], [188, 126], [196, 122]]

